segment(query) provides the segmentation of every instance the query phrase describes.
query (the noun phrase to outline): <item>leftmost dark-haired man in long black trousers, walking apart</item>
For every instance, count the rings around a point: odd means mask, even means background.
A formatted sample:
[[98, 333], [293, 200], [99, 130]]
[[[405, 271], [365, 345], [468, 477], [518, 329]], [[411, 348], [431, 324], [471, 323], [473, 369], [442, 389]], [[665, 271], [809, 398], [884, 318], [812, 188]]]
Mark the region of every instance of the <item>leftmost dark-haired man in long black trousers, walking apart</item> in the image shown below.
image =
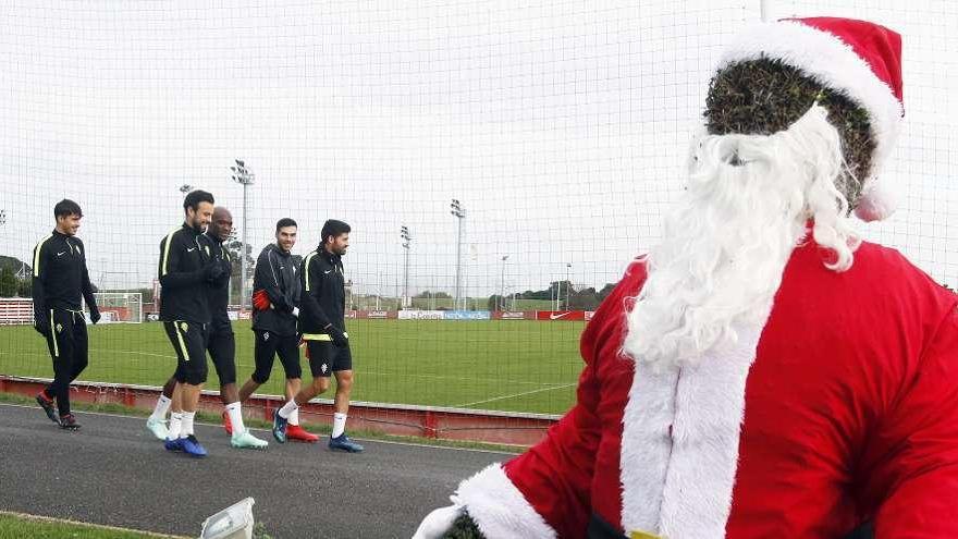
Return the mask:
[[70, 383], [87, 365], [81, 296], [93, 323], [100, 321], [100, 311], [86, 268], [86, 249], [76, 237], [83, 210], [63, 199], [53, 207], [53, 217], [57, 228], [34, 248], [34, 328], [46, 338], [53, 358], [53, 382], [37, 394], [37, 403], [61, 428], [76, 430], [79, 425], [70, 411]]

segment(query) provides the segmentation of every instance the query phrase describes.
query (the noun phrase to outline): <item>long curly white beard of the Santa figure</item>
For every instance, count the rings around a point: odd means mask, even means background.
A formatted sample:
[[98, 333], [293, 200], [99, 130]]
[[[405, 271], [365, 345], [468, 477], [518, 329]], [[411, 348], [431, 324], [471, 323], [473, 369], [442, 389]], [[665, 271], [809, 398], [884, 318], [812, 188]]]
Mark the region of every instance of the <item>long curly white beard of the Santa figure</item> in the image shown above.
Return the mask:
[[[649, 253], [649, 275], [627, 316], [623, 351], [655, 370], [695, 365], [762, 324], [795, 247], [814, 219], [823, 264], [851, 267], [860, 238], [835, 183], [840, 138], [813, 105], [770, 136], [707, 135], [692, 144], [688, 189]], [[733, 164], [735, 162], [735, 164]]]

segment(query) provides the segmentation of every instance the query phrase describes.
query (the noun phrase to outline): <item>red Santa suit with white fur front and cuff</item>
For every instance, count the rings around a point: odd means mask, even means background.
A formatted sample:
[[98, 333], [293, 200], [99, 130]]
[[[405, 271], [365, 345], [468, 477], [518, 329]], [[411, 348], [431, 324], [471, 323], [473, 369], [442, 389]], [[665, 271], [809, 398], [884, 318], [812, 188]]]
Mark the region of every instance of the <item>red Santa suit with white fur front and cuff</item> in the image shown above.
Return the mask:
[[621, 352], [634, 262], [581, 339], [577, 402], [521, 456], [460, 485], [490, 538], [958, 537], [956, 296], [863, 243], [835, 272], [793, 252], [767, 320], [693, 367]]

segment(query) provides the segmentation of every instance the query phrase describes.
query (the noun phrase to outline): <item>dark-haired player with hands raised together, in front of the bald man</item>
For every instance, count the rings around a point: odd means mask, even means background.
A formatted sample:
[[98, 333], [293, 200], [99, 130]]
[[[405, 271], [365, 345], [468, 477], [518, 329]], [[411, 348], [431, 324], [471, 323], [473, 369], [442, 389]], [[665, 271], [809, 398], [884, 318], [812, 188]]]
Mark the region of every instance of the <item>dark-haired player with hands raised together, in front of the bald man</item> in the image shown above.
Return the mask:
[[225, 271], [212, 257], [204, 229], [213, 212], [213, 196], [194, 191], [183, 200], [183, 225], [160, 242], [160, 320], [176, 352], [176, 381], [165, 448], [206, 456], [193, 421], [206, 382], [206, 347], [211, 321], [207, 287]]

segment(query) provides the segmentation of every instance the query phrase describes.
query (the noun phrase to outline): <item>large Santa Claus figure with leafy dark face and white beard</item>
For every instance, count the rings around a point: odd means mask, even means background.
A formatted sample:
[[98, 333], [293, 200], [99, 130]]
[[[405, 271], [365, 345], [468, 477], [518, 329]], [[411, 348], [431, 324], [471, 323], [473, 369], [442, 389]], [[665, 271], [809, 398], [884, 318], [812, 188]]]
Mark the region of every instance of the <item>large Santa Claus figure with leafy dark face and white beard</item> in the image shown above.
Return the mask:
[[417, 538], [958, 538], [956, 296], [850, 222], [891, 210], [900, 50], [847, 19], [735, 39], [575, 406]]

